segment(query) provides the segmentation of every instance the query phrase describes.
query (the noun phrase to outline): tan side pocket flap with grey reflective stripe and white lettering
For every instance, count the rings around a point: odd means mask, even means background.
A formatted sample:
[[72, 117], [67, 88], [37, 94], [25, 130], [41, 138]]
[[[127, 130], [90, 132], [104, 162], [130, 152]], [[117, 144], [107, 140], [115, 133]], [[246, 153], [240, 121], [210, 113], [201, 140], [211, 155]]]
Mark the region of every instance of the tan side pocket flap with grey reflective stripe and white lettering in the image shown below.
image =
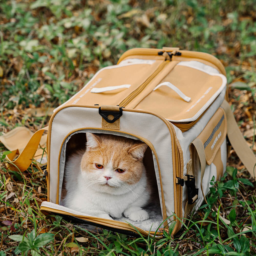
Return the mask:
[[[210, 165], [216, 156], [227, 134], [227, 119], [222, 108], [219, 108], [199, 134], [205, 148], [206, 162]], [[221, 160], [221, 159], [220, 159]], [[216, 166], [217, 167], [217, 166]], [[221, 170], [223, 166], [221, 166]]]

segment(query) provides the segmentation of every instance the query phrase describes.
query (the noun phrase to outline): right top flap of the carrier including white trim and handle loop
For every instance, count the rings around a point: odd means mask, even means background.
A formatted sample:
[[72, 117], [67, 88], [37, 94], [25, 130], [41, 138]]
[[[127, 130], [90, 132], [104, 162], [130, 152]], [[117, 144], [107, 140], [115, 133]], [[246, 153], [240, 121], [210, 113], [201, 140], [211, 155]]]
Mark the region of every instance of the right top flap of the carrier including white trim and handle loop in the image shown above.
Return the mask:
[[156, 112], [171, 122], [193, 122], [226, 90], [226, 84], [216, 68], [180, 61], [157, 86], [147, 88], [135, 108]]

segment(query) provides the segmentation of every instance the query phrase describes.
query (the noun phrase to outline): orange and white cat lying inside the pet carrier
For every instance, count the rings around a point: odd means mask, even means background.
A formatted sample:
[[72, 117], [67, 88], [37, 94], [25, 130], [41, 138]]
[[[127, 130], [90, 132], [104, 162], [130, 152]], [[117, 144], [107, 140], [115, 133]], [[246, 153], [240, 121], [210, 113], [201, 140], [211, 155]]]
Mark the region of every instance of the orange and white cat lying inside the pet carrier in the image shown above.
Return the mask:
[[142, 209], [151, 196], [142, 162], [147, 145], [110, 134], [86, 133], [86, 138], [86, 150], [66, 161], [60, 204], [99, 218], [148, 219]]

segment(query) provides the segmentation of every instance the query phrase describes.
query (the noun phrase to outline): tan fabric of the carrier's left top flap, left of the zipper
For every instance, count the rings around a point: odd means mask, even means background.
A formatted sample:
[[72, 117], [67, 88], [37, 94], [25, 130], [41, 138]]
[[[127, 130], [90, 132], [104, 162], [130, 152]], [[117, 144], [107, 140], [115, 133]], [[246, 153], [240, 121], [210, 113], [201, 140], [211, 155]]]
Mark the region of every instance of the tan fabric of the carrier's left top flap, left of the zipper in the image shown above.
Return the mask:
[[[129, 64], [116, 65], [99, 70], [95, 76], [72, 97], [65, 105], [118, 105], [131, 92], [139, 87], [162, 63], [156, 60], [153, 64]], [[131, 84], [130, 88], [120, 88], [116, 90], [91, 93], [92, 88], [104, 88], [109, 86], [119, 86]]]

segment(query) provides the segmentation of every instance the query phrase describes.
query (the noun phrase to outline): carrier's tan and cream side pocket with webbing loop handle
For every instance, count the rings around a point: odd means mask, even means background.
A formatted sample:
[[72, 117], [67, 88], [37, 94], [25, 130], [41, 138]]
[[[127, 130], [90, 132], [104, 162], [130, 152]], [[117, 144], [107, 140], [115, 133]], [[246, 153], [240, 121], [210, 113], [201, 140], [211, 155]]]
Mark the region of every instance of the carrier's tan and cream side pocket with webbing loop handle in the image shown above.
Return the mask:
[[[214, 176], [216, 181], [226, 170], [226, 135], [226, 114], [222, 108], [219, 108], [212, 116], [210, 121], [206, 124], [204, 130], [189, 146], [191, 159], [187, 164], [188, 175], [184, 177], [184, 181], [186, 179], [191, 180], [194, 177], [194, 190], [201, 187], [201, 189], [198, 191], [198, 207], [201, 205], [204, 199], [206, 200], [205, 195], [209, 192], [212, 177]], [[191, 191], [191, 188], [188, 187], [188, 191]], [[192, 195], [194, 194], [192, 193]], [[189, 200], [190, 198], [188, 193], [188, 204], [186, 204], [187, 207], [185, 208], [185, 216], [191, 212], [195, 205], [194, 201], [191, 201], [193, 204], [189, 205]]]

